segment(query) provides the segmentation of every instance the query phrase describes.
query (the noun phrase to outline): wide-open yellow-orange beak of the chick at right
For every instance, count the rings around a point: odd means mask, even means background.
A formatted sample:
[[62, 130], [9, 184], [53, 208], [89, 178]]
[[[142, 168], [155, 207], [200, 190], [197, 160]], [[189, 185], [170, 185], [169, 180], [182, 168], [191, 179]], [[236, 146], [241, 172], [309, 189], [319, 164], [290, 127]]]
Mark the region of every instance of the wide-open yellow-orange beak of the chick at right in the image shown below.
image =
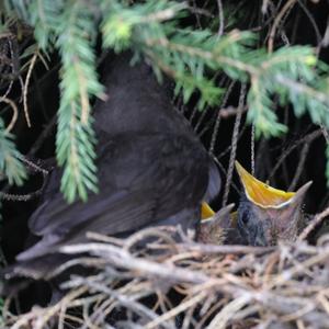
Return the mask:
[[311, 182], [306, 183], [297, 192], [285, 192], [271, 188], [250, 174], [238, 161], [236, 169], [242, 182], [246, 196], [253, 204], [262, 208], [281, 208], [285, 205], [303, 200]]

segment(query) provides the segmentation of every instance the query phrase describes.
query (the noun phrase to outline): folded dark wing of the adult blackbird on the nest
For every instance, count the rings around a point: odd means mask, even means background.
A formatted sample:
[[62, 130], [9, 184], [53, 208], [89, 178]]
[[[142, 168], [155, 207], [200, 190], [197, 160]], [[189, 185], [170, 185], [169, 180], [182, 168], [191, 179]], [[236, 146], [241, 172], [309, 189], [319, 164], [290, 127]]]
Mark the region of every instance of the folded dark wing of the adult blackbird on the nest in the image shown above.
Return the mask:
[[30, 220], [43, 239], [19, 260], [52, 252], [53, 246], [88, 230], [132, 232], [200, 206], [208, 184], [208, 158], [201, 145], [161, 134], [109, 139], [99, 159], [99, 194], [70, 205], [59, 190], [48, 194]]

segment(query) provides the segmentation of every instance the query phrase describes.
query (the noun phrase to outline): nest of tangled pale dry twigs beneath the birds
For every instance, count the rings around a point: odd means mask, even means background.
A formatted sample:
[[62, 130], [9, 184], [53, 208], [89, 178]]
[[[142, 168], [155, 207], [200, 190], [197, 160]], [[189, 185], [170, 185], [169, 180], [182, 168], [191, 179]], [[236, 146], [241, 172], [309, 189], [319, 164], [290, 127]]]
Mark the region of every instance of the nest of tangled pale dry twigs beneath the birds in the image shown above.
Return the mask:
[[[179, 238], [178, 238], [179, 237]], [[14, 316], [11, 328], [328, 328], [329, 235], [316, 246], [214, 246], [177, 228], [147, 228], [126, 239], [95, 234], [66, 246], [77, 264], [59, 300]], [[177, 242], [179, 241], [179, 242]]]

